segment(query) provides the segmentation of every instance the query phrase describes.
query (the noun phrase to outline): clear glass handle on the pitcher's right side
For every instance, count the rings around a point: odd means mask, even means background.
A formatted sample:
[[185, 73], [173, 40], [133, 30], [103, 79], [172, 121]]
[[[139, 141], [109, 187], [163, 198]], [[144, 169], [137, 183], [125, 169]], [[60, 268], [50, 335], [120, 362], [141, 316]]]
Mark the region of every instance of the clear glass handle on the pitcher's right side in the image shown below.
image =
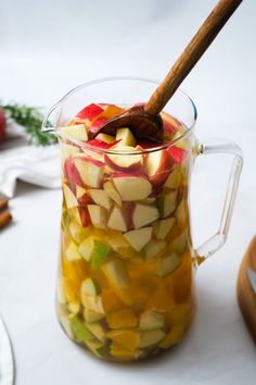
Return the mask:
[[230, 227], [230, 221], [233, 213], [234, 200], [238, 191], [239, 179], [243, 166], [243, 154], [241, 148], [226, 139], [209, 139], [205, 142], [199, 144], [197, 154], [215, 154], [227, 153], [233, 156], [233, 163], [230, 172], [229, 183], [225, 197], [225, 203], [222, 209], [222, 215], [219, 224], [219, 228], [216, 234], [209, 237], [197, 249], [196, 259], [197, 263], [202, 263], [206, 258], [219, 250], [226, 243], [227, 235]]

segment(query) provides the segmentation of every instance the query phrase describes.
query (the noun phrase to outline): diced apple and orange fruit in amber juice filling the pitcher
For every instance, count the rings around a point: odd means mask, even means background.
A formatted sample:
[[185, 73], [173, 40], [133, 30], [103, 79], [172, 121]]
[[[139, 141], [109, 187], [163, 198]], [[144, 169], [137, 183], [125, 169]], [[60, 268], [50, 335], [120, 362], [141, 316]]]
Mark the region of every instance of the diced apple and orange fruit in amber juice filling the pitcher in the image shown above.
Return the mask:
[[163, 144], [140, 142], [127, 127], [115, 137], [97, 135], [121, 111], [90, 104], [60, 128], [57, 314], [77, 344], [100, 358], [129, 361], [178, 344], [193, 319], [193, 137], [167, 113]]

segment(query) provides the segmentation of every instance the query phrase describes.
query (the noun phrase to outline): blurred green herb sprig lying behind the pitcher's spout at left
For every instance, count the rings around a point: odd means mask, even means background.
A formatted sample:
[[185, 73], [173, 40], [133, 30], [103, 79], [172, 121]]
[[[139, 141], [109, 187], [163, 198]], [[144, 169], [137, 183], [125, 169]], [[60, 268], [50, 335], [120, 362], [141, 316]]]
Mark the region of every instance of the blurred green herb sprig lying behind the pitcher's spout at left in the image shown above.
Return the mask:
[[[25, 132], [37, 145], [48, 146], [57, 141], [55, 135], [43, 134], [41, 132], [43, 115], [37, 108], [17, 103], [11, 103], [1, 107], [4, 111], [8, 112], [8, 115], [11, 119], [13, 119], [17, 124], [25, 128]], [[51, 124], [49, 122], [49, 127], [50, 126]]]

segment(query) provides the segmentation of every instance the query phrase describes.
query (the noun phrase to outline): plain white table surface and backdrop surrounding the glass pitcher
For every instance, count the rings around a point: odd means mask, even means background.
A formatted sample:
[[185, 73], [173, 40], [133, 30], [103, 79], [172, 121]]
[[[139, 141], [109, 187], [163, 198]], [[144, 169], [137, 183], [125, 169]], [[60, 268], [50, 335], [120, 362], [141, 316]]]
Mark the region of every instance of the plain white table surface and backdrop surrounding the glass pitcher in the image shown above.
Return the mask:
[[[137, 3], [1, 3], [0, 99], [50, 105], [97, 77], [162, 78], [215, 1]], [[229, 239], [196, 274], [197, 315], [187, 339], [158, 359], [124, 365], [72, 344], [53, 303], [61, 191], [20, 183], [11, 201], [14, 223], [0, 234], [0, 312], [17, 385], [255, 384], [256, 350], [235, 299], [239, 265], [256, 226], [255, 13], [255, 1], [244, 1], [182, 86], [199, 108], [197, 137], [232, 138], [245, 156]], [[229, 165], [225, 157], [195, 164], [195, 245], [217, 229]]]

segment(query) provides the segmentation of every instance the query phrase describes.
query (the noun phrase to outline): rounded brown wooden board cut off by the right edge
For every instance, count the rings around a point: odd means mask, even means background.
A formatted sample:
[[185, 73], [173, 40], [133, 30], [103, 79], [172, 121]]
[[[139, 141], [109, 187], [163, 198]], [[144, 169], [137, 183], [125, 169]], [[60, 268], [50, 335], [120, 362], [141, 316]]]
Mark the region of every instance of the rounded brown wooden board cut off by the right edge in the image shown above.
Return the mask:
[[244, 321], [256, 344], [256, 236], [252, 239], [240, 266], [238, 300]]

